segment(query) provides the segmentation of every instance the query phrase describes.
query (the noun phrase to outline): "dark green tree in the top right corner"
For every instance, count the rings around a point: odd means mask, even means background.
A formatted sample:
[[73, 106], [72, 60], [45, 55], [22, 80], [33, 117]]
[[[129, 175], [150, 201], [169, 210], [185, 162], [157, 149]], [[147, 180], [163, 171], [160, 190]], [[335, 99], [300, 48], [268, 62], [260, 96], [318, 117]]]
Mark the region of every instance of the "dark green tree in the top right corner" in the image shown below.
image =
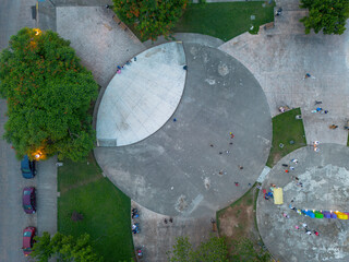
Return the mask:
[[309, 9], [309, 15], [300, 20], [305, 26], [305, 34], [314, 29], [316, 34], [323, 31], [326, 35], [341, 35], [346, 31], [348, 0], [301, 0], [300, 8]]

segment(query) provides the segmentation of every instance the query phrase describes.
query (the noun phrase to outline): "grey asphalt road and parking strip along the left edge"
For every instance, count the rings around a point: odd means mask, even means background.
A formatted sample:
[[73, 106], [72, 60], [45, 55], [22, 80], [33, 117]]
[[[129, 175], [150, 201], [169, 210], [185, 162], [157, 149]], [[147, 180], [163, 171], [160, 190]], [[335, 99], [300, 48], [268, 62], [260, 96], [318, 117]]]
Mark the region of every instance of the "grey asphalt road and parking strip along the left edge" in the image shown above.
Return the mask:
[[[8, 46], [11, 35], [22, 27], [35, 27], [32, 5], [35, 0], [0, 0], [0, 50]], [[7, 104], [0, 99], [0, 138], [3, 134]], [[35, 179], [22, 178], [20, 162], [11, 145], [0, 139], [0, 261], [27, 261], [22, 252], [22, 231], [36, 226], [39, 234], [57, 230], [57, 168], [56, 158], [39, 163]], [[27, 215], [22, 209], [22, 189], [37, 188], [38, 213]], [[38, 226], [39, 225], [39, 226]]]

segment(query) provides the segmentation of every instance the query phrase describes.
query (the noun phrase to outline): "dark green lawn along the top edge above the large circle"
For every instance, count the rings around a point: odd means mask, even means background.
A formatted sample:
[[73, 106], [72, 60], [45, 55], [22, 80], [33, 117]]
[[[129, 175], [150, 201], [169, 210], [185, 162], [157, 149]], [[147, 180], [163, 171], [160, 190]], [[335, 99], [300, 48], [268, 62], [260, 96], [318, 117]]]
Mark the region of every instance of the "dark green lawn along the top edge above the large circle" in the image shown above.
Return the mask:
[[[260, 25], [274, 21], [275, 3], [265, 2], [190, 4], [174, 32], [210, 35], [227, 41], [250, 31], [252, 25], [257, 29]], [[262, 7], [264, 3], [265, 8]], [[255, 15], [255, 20], [252, 21], [251, 15]]]

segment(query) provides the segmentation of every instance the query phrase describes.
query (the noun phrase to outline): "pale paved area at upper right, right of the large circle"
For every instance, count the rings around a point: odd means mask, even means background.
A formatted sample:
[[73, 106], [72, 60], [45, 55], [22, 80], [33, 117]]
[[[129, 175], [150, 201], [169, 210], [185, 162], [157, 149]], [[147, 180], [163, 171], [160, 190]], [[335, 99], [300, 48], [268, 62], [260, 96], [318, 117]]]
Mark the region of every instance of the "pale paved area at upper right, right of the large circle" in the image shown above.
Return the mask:
[[[294, 5], [288, 7], [290, 10]], [[219, 47], [242, 62], [264, 90], [273, 116], [278, 107], [301, 107], [306, 141], [347, 144], [349, 118], [349, 32], [341, 36], [304, 35], [299, 19], [305, 11], [282, 11], [275, 28], [242, 34]], [[304, 80], [305, 73], [314, 78]], [[327, 115], [312, 114], [322, 100]], [[329, 130], [329, 124], [338, 130]]]

